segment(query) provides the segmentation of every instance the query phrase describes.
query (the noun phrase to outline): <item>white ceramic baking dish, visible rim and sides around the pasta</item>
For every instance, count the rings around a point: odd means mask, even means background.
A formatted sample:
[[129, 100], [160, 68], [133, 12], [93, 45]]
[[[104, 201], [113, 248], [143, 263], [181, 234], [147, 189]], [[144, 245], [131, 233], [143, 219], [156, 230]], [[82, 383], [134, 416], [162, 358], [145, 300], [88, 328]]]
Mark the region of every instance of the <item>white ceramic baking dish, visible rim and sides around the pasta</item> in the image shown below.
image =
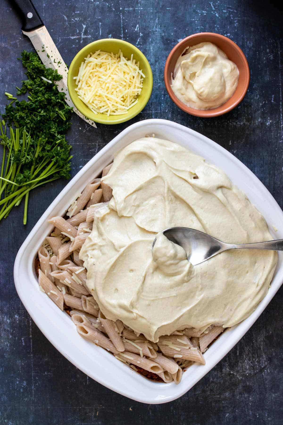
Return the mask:
[[[39, 291], [34, 272], [34, 259], [39, 246], [52, 227], [47, 219], [63, 215], [70, 200], [86, 183], [112, 161], [113, 155], [135, 139], [154, 133], [156, 137], [177, 142], [224, 170], [234, 184], [247, 194], [263, 214], [276, 239], [283, 238], [283, 212], [261, 181], [231, 153], [215, 142], [189, 128], [163, 119], [148, 119], [130, 125], [98, 152], [62, 190], [34, 226], [22, 244], [14, 265], [15, 286], [22, 303], [36, 325], [70, 362], [88, 376], [113, 391], [145, 403], [165, 403], [174, 400], [196, 384], [248, 331], [283, 280], [283, 256], [279, 261], [268, 294], [246, 320], [225, 331], [205, 352], [206, 364], [193, 365], [183, 375], [179, 385], [152, 382], [115, 359], [103, 348], [95, 346], [77, 333], [70, 317]], [[275, 233], [272, 226], [278, 231]]]

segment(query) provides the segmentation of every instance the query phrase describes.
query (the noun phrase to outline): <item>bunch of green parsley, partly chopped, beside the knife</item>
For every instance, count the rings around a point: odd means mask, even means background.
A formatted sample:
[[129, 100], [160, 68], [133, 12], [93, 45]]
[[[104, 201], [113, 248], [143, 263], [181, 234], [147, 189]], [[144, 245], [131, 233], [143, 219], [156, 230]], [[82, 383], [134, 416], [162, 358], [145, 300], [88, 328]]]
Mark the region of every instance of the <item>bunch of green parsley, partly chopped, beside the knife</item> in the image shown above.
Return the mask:
[[65, 134], [71, 126], [72, 108], [55, 84], [58, 72], [45, 68], [36, 53], [22, 52], [27, 79], [17, 87], [17, 96], [28, 93], [27, 100], [11, 100], [0, 121], [0, 221], [24, 200], [23, 223], [27, 222], [28, 195], [35, 187], [70, 178], [71, 145]]

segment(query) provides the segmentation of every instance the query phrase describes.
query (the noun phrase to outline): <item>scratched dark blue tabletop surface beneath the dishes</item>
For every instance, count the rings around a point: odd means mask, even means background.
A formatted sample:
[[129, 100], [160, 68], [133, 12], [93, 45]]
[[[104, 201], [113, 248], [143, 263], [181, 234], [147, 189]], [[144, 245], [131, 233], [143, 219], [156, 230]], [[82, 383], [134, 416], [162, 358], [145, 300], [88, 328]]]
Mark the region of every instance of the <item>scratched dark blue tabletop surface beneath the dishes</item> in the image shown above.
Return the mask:
[[[72, 176], [129, 124], [164, 118], [218, 142], [251, 169], [283, 207], [282, 14], [269, 2], [225, 0], [91, 1], [34, 4], [65, 62], [99, 38], [137, 45], [152, 67], [149, 103], [122, 125], [95, 130], [76, 115], [67, 138], [73, 145]], [[24, 69], [17, 57], [31, 50], [7, 0], [0, 14], [0, 96], [15, 93]], [[171, 48], [201, 31], [224, 34], [247, 56], [249, 91], [227, 115], [201, 119], [171, 102], [163, 67]], [[20, 245], [62, 190], [60, 180], [31, 193], [28, 224], [22, 206], [0, 223], [0, 423], [1, 424], [281, 424], [283, 422], [283, 288], [241, 341], [191, 391], [165, 405], [145, 405], [116, 394], [69, 363], [44, 337], [14, 288], [13, 264]]]

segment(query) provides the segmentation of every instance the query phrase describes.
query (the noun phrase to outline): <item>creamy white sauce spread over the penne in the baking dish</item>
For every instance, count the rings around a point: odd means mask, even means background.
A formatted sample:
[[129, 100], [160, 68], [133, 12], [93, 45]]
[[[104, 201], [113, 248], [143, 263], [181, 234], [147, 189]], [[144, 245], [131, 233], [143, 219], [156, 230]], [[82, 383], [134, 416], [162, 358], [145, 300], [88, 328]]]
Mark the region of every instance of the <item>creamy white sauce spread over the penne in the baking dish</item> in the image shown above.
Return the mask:
[[157, 341], [186, 327], [233, 326], [266, 295], [274, 251], [230, 250], [192, 266], [181, 247], [158, 235], [151, 252], [156, 234], [174, 226], [235, 244], [272, 239], [262, 215], [219, 168], [149, 137], [120, 150], [102, 180], [113, 198], [97, 210], [80, 258], [106, 317]]

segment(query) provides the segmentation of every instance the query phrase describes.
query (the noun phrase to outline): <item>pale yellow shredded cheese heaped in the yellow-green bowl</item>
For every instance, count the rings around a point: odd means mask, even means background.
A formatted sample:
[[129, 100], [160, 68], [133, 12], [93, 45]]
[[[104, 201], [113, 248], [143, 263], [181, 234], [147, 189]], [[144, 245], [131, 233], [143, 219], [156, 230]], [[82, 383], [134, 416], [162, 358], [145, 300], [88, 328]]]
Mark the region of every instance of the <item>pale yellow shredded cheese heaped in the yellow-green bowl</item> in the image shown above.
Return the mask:
[[127, 113], [143, 88], [145, 75], [139, 65], [133, 55], [128, 60], [121, 51], [116, 55], [100, 50], [89, 54], [74, 77], [79, 99], [95, 114]]

